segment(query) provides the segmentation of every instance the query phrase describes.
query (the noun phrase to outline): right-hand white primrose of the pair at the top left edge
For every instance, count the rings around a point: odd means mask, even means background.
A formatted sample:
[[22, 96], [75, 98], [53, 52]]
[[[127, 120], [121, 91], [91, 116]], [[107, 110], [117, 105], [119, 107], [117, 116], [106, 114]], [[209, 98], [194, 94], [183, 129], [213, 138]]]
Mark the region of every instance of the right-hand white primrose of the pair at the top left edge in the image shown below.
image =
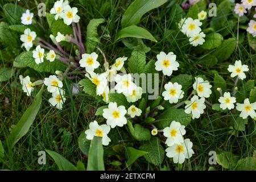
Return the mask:
[[77, 12], [77, 7], [71, 8], [69, 5], [67, 5], [64, 7], [64, 11], [60, 14], [60, 16], [63, 18], [65, 24], [70, 25], [72, 22], [79, 22], [80, 16], [77, 15]]

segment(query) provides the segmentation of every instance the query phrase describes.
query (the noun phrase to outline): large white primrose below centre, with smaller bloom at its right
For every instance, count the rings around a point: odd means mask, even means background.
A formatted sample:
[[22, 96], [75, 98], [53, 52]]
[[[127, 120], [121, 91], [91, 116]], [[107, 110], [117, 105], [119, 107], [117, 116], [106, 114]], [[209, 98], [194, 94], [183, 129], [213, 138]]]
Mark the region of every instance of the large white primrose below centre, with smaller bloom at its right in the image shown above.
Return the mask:
[[125, 106], [118, 106], [116, 102], [110, 102], [108, 108], [103, 109], [103, 117], [107, 119], [107, 125], [114, 128], [115, 126], [122, 127], [126, 125], [127, 119], [125, 114], [127, 113]]

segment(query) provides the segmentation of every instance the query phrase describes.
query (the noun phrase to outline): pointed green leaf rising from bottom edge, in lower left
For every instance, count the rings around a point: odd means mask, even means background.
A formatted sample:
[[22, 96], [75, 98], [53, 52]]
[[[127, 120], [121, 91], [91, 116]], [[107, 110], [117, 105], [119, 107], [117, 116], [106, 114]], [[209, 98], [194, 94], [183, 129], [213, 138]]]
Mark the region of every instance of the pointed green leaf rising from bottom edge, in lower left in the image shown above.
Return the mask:
[[51, 150], [46, 150], [46, 152], [53, 158], [60, 171], [77, 171], [77, 168], [62, 155]]

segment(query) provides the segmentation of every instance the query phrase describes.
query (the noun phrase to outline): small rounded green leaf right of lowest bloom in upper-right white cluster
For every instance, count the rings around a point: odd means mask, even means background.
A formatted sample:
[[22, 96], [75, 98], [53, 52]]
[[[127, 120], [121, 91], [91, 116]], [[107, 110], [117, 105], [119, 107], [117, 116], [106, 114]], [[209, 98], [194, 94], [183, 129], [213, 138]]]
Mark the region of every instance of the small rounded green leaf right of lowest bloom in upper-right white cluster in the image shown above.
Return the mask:
[[218, 34], [218, 33], [208, 34], [205, 37], [205, 43], [200, 47], [207, 50], [214, 49], [221, 45], [222, 40], [223, 40], [223, 37], [221, 34]]

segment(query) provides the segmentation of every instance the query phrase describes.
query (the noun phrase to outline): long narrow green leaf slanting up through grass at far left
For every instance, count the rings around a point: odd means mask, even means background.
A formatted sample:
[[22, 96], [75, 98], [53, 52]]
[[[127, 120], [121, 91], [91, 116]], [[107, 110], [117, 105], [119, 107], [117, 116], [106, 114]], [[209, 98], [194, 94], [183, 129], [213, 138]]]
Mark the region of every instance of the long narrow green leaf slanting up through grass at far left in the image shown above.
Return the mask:
[[32, 123], [35, 120], [36, 114], [38, 114], [38, 111], [40, 109], [43, 89], [44, 86], [42, 86], [39, 93], [36, 94], [34, 101], [27, 108], [25, 113], [19, 119], [18, 124], [15, 126], [15, 128], [11, 131], [9, 137], [6, 139], [6, 150], [11, 150], [14, 147], [15, 143], [17, 143], [20, 138], [26, 135], [26, 133], [30, 129]]

